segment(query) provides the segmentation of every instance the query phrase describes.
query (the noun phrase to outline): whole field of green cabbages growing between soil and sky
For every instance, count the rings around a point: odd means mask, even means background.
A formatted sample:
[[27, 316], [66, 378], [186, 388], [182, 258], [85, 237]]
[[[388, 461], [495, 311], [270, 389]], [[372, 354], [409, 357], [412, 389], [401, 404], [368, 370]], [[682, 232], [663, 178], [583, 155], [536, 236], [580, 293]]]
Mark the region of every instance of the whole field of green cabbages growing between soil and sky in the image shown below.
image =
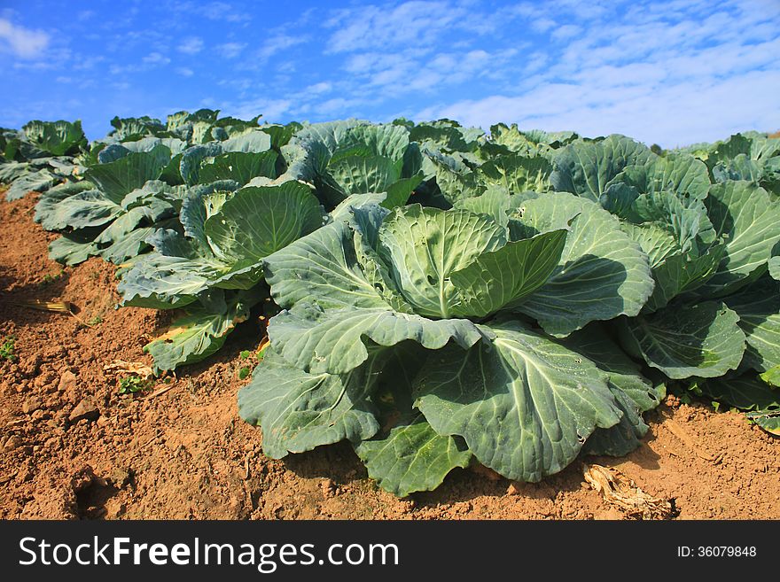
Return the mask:
[[50, 256], [174, 310], [154, 373], [260, 318], [238, 414], [272, 458], [348, 440], [378, 485], [536, 482], [639, 446], [667, 392], [780, 434], [780, 139], [675, 150], [453, 120], [219, 112], [0, 130]]

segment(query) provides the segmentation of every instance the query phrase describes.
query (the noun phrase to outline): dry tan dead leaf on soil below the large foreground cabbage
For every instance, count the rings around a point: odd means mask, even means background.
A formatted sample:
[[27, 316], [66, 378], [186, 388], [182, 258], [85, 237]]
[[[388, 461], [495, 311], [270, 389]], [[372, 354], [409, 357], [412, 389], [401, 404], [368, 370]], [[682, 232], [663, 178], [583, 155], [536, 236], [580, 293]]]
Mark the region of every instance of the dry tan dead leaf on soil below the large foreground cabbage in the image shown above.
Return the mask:
[[632, 519], [669, 519], [672, 504], [644, 493], [618, 469], [601, 465], [583, 466], [585, 480], [605, 501], [620, 508]]

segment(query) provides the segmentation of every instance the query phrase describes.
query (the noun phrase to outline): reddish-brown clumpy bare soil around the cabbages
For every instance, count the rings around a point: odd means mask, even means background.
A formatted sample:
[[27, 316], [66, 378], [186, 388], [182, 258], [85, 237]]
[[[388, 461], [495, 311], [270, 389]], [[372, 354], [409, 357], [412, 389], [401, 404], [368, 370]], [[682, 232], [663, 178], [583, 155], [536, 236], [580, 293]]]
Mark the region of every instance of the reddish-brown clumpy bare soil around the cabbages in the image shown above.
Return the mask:
[[[0, 203], [0, 517], [6, 519], [621, 519], [582, 477], [582, 462], [539, 484], [511, 483], [481, 466], [456, 469], [433, 493], [396, 499], [367, 477], [350, 446], [283, 461], [261, 453], [261, 431], [241, 421], [236, 392], [260, 345], [239, 326], [209, 361], [119, 394], [115, 360], [151, 363], [142, 347], [168, 314], [115, 309], [114, 268], [48, 260], [55, 236], [34, 224], [37, 196]], [[70, 314], [18, 305], [70, 301]], [[164, 388], [167, 392], [157, 393]], [[155, 394], [155, 395], [150, 395]], [[669, 397], [649, 415], [642, 446], [622, 471], [671, 501], [677, 519], [780, 518], [780, 438], [737, 412]]]

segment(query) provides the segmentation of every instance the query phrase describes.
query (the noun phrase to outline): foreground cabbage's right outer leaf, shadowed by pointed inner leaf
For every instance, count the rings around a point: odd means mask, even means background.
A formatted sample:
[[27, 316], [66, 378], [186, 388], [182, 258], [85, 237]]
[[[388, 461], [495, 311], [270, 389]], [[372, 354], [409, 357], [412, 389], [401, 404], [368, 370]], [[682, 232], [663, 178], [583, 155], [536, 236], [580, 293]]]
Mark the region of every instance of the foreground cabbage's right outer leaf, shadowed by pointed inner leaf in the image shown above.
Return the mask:
[[[554, 336], [589, 322], [636, 315], [653, 290], [647, 256], [601, 206], [565, 192], [527, 198], [511, 214], [524, 234], [566, 228], [566, 246], [548, 283], [518, 310]], [[573, 220], [575, 219], [575, 220]]]

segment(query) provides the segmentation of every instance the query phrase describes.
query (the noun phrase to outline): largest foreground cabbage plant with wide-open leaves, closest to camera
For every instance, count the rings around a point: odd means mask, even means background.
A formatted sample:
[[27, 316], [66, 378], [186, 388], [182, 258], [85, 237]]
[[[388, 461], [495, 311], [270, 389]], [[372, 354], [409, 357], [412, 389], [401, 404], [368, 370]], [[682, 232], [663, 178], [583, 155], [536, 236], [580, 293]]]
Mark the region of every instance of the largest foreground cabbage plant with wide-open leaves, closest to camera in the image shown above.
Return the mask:
[[644, 434], [653, 385], [600, 328], [573, 334], [642, 309], [653, 283], [639, 245], [572, 194], [470, 202], [358, 203], [266, 258], [284, 311], [238, 397], [266, 454], [347, 438], [403, 495], [472, 456], [538, 481], [594, 431], [605, 452]]

